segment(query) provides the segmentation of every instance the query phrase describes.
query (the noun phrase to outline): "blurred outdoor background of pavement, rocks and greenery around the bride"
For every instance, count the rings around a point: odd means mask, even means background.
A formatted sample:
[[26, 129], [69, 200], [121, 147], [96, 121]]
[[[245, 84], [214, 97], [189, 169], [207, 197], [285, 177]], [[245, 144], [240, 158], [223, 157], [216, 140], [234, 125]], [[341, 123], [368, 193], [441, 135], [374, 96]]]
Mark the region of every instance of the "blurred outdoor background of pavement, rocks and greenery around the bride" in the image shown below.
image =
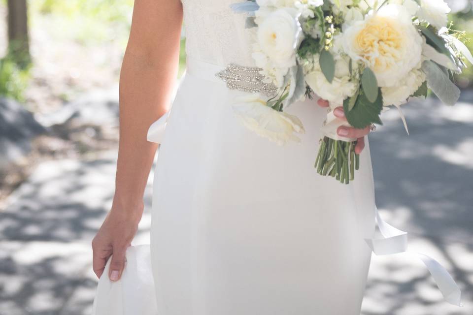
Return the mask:
[[[472, 1], [448, 2], [455, 28], [473, 38]], [[114, 192], [132, 9], [133, 0], [0, 0], [0, 315], [91, 312], [90, 242]], [[410, 233], [412, 251], [447, 267], [465, 306], [442, 301], [420, 260], [373, 255], [364, 315], [473, 314], [473, 66], [456, 80], [455, 107], [413, 101], [403, 107], [410, 136], [389, 111], [370, 141], [381, 215]], [[150, 185], [135, 244], [149, 243]]]

